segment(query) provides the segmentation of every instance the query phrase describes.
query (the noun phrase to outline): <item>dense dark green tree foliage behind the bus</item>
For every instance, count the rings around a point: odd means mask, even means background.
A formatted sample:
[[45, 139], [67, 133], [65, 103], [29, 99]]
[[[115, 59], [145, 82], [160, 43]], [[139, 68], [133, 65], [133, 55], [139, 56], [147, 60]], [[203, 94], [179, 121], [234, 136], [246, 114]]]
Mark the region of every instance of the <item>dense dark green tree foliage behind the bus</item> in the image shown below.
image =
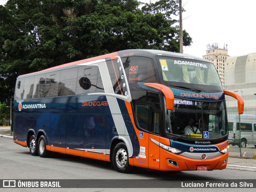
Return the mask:
[[123, 49], [179, 52], [177, 14], [178, 0], [8, 0], [0, 6], [0, 101], [25, 73]]

